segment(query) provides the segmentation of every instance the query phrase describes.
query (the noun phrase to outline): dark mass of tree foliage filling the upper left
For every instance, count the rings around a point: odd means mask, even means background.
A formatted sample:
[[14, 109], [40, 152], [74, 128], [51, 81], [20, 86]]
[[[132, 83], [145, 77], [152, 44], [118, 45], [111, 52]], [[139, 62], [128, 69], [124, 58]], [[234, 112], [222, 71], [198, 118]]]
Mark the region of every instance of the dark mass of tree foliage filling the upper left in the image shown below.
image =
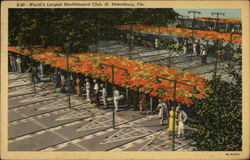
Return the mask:
[[[173, 9], [10, 9], [9, 45], [59, 46], [63, 52], [86, 52], [90, 44], [112, 37], [115, 25], [128, 20], [156, 24], [153, 13], [164, 21], [177, 15]], [[166, 19], [168, 18], [168, 19]]]

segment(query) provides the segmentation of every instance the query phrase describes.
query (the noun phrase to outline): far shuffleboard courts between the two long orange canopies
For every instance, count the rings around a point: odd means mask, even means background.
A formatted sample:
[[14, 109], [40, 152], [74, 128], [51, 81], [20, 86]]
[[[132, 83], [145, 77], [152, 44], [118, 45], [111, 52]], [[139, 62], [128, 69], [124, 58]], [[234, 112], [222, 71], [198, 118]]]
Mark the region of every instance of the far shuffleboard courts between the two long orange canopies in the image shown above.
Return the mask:
[[[193, 72], [205, 77], [206, 79], [212, 79], [215, 70], [216, 59], [211, 56], [207, 58], [208, 65], [202, 66], [200, 57], [194, 57], [190, 54], [184, 55], [182, 52], [177, 53], [166, 49], [155, 50], [154, 48], [134, 46], [130, 53], [128, 45], [120, 41], [100, 42], [97, 48], [100, 53], [124, 56], [130, 59], [141, 60], [143, 62], [170, 66], [179, 70]], [[222, 76], [222, 79], [231, 81], [232, 77], [229, 77], [226, 72], [229, 61], [218, 60], [217, 64], [217, 71], [218, 74]], [[230, 62], [230, 64], [232, 66], [237, 66], [234, 62]]]

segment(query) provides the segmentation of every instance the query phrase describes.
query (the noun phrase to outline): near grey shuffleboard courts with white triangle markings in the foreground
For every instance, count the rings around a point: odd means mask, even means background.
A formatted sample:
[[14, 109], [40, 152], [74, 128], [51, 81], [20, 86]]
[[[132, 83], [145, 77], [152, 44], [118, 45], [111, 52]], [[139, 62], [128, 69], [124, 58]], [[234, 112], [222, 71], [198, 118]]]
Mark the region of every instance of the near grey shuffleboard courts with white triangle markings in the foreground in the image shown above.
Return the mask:
[[[20, 76], [10, 73], [9, 81]], [[10, 151], [144, 151], [171, 150], [166, 125], [157, 115], [126, 109], [116, 113], [88, 104], [82, 97], [53, 92], [51, 82], [34, 86], [24, 74], [9, 86], [8, 142]], [[110, 107], [109, 107], [110, 108]], [[155, 136], [154, 143], [148, 145]], [[176, 150], [190, 140], [176, 141]]]

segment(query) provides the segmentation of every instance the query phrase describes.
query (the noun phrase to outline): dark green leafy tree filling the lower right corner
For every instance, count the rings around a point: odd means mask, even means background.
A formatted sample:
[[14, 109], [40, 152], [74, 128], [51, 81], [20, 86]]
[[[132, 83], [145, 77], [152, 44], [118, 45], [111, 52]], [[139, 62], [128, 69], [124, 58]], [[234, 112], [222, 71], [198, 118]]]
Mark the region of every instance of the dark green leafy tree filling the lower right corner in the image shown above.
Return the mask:
[[226, 82], [214, 76], [209, 81], [212, 90], [209, 96], [195, 100], [188, 109], [188, 125], [196, 130], [189, 131], [187, 137], [197, 143], [197, 150], [242, 150], [242, 76], [232, 68], [229, 74], [234, 81]]

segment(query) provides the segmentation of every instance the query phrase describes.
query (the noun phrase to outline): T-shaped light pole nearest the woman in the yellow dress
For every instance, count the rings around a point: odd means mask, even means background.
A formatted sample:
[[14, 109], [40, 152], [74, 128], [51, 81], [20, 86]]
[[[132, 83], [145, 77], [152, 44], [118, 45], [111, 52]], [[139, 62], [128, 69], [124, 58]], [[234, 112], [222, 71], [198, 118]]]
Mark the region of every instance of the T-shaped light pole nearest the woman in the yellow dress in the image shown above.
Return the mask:
[[186, 83], [177, 81], [176, 76], [175, 76], [174, 80], [157, 76], [156, 77], [157, 82], [160, 82], [159, 79], [167, 80], [167, 81], [170, 81], [170, 82], [174, 83], [174, 96], [173, 96], [173, 102], [174, 102], [173, 108], [174, 108], [174, 111], [173, 111], [173, 131], [172, 131], [172, 151], [174, 151], [174, 146], [175, 146], [175, 118], [176, 118], [176, 87], [177, 87], [177, 84], [192, 87], [193, 91], [191, 91], [190, 93], [193, 93], [193, 94], [198, 94], [199, 91], [197, 91], [197, 88], [194, 85], [190, 85], [190, 84], [186, 84]]

